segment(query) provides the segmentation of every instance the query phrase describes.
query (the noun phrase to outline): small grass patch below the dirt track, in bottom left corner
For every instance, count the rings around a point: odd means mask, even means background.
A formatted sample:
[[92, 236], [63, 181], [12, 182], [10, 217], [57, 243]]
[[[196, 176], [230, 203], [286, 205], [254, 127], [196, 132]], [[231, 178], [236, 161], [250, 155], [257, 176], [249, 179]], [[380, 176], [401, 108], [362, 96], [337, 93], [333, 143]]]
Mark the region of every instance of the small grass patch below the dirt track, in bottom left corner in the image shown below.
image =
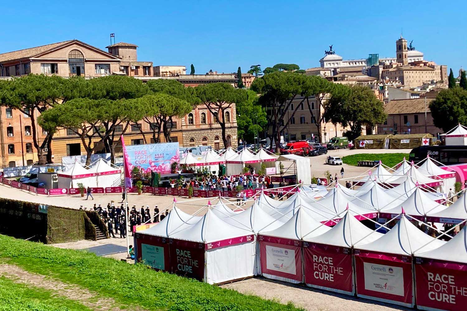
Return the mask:
[[0, 301], [0, 311], [91, 311], [53, 291], [14, 283], [5, 277], [0, 277]]

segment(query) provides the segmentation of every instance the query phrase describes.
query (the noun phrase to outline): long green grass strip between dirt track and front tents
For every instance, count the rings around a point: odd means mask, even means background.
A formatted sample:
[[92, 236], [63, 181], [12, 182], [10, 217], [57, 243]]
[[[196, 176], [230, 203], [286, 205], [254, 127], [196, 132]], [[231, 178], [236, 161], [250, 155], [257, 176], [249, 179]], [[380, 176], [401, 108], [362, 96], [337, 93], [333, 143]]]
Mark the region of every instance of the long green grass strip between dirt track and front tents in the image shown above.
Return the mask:
[[154, 311], [303, 310], [292, 303], [284, 305], [243, 295], [194, 279], [157, 272], [142, 264], [127, 264], [85, 251], [58, 249], [6, 235], [0, 235], [0, 245], [0, 262], [81, 285], [128, 307]]

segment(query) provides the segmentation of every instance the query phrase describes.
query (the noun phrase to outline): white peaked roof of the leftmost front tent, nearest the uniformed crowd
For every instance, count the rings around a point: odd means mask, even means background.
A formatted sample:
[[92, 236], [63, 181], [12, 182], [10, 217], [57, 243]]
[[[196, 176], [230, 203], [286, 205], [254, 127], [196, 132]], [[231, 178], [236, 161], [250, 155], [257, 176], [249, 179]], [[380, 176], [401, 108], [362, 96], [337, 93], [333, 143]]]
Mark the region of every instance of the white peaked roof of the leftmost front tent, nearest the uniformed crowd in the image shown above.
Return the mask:
[[192, 216], [190, 214], [186, 214], [175, 206], [170, 210], [169, 215], [166, 216], [161, 222], [155, 226], [152, 226], [151, 228], [141, 231], [141, 233], [145, 235], [168, 237], [172, 233], [194, 225], [201, 218], [202, 216]]

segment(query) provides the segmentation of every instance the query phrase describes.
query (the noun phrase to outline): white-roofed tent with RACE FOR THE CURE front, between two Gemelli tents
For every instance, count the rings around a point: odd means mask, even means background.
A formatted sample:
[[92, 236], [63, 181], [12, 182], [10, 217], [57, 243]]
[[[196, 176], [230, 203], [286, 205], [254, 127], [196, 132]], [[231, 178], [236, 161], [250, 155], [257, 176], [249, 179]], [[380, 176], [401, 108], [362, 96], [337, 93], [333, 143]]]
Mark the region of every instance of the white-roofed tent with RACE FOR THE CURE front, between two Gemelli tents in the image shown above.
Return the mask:
[[329, 231], [304, 237], [304, 275], [308, 286], [353, 295], [352, 247], [356, 242], [372, 242], [381, 233], [363, 225], [352, 211]]

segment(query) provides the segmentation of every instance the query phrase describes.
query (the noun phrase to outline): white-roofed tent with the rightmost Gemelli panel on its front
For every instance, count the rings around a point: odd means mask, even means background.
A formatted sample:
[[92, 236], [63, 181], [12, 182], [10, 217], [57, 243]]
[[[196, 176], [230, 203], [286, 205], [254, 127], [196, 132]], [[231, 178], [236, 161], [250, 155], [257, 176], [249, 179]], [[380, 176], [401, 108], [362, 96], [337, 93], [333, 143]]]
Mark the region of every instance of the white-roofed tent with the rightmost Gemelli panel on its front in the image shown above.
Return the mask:
[[429, 251], [444, 243], [426, 235], [402, 215], [379, 239], [355, 245], [357, 296], [412, 307], [411, 256], [417, 249]]

